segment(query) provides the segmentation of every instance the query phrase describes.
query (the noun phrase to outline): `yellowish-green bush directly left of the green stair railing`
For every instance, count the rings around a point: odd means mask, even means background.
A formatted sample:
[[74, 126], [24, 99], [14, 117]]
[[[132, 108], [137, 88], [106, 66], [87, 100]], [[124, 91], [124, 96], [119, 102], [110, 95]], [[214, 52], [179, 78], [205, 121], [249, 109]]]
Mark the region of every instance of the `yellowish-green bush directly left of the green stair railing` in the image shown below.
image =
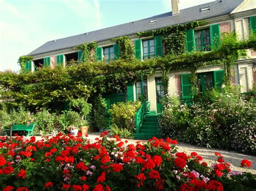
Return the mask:
[[131, 133], [135, 132], [134, 115], [140, 107], [140, 102], [119, 102], [112, 104], [109, 110], [112, 124], [116, 124], [120, 129], [126, 129]]

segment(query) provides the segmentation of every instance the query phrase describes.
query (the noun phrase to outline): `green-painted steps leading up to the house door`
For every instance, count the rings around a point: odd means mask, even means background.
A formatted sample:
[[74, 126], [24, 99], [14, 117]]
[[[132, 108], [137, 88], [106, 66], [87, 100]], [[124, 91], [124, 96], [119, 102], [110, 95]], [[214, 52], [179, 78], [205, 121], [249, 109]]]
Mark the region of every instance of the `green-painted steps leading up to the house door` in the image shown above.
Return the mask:
[[139, 132], [134, 135], [134, 139], [151, 139], [152, 137], [160, 138], [161, 136], [158, 128], [158, 115], [147, 114], [143, 120]]

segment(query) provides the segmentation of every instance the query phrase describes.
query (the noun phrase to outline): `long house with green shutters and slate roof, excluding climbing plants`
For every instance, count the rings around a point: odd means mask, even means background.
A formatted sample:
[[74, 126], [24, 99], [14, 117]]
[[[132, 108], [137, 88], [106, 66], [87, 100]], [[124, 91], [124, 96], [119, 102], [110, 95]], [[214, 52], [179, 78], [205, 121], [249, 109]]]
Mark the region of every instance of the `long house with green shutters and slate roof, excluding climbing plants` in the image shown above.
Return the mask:
[[[217, 0], [191, 8], [179, 10], [179, 0], [170, 0], [172, 12], [136, 20], [117, 26], [108, 27], [92, 32], [78, 34], [57, 40], [51, 40], [38, 47], [28, 55], [33, 60], [26, 63], [26, 70], [34, 71], [38, 67], [55, 67], [58, 64], [65, 66], [65, 62], [79, 60], [81, 51], [73, 47], [82, 43], [97, 41], [97, 59], [103, 58], [107, 61], [119, 53], [117, 44], [113, 44], [112, 38], [127, 36], [133, 42], [136, 49], [136, 57], [139, 60], [150, 59], [151, 56], [161, 56], [164, 53], [165, 45], [160, 36], [139, 38], [137, 33], [161, 29], [166, 26], [185, 24], [194, 20], [206, 20], [207, 24], [186, 31], [186, 51], [193, 48], [199, 51], [211, 51], [214, 38], [221, 33], [235, 31], [240, 39], [250, 36], [250, 31], [256, 32], [256, 2], [255, 0]], [[256, 52], [247, 51], [247, 57], [237, 61], [233, 67], [234, 75], [232, 83], [242, 87], [241, 91], [246, 92], [256, 82], [255, 66]], [[181, 99], [191, 97], [190, 82], [187, 71], [174, 71], [169, 74], [169, 93], [176, 93]], [[197, 70], [198, 87], [202, 93], [207, 88], [219, 86], [223, 81], [223, 69], [220, 66], [205, 66]], [[164, 96], [164, 86], [161, 81], [161, 72], [156, 71], [147, 79], [138, 79], [135, 83], [129, 83], [125, 92], [119, 92], [109, 96], [109, 104], [128, 100], [137, 100], [144, 92], [144, 96], [150, 102], [150, 111], [161, 112], [162, 105], [160, 98]]]

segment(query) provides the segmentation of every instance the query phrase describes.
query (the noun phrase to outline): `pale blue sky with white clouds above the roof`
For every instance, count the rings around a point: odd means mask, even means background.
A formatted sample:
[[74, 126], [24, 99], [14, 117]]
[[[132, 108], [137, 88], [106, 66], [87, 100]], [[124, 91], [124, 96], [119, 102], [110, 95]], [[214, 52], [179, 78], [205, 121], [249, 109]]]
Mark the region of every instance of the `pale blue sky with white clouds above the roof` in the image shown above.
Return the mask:
[[[179, 8], [214, 0], [179, 0]], [[47, 41], [171, 11], [171, 0], [0, 0], [0, 71]]]

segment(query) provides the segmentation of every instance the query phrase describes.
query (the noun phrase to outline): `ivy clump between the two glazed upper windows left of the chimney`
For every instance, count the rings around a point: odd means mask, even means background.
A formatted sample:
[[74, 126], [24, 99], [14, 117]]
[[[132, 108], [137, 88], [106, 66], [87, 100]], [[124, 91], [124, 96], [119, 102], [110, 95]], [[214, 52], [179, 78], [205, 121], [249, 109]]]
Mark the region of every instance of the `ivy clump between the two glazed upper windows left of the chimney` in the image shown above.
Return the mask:
[[117, 44], [119, 44], [120, 59], [123, 59], [125, 61], [131, 61], [134, 59], [134, 46], [128, 37], [123, 36], [114, 38], [113, 40], [116, 41]]

